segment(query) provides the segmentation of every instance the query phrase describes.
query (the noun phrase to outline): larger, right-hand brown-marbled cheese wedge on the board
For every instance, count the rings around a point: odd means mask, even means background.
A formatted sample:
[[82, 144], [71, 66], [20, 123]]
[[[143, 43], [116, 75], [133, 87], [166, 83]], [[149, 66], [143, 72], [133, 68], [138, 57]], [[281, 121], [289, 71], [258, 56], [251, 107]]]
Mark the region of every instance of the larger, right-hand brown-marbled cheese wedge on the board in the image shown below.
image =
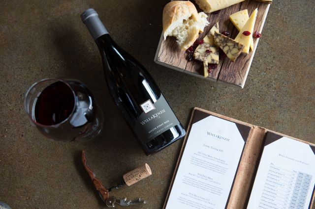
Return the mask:
[[220, 47], [232, 62], [235, 61], [244, 49], [242, 44], [218, 32], [215, 32], [214, 44]]

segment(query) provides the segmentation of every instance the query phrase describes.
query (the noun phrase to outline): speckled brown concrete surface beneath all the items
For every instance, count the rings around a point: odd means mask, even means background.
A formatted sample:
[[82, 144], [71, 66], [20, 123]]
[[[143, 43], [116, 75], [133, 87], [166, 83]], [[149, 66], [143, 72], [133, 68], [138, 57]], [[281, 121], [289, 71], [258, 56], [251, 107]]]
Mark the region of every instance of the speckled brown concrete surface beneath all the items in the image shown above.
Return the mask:
[[[81, 150], [105, 186], [148, 163], [152, 176], [113, 191], [160, 209], [183, 140], [146, 157], [107, 90], [98, 49], [80, 14], [95, 8], [112, 38], [138, 59], [187, 128], [192, 107], [315, 143], [315, 2], [274, 0], [244, 89], [156, 64], [162, 9], [168, 0], [25, 0], [0, 3], [0, 202], [13, 209], [104, 208]], [[26, 90], [41, 78], [76, 78], [104, 112], [89, 142], [56, 142], [34, 130]]]

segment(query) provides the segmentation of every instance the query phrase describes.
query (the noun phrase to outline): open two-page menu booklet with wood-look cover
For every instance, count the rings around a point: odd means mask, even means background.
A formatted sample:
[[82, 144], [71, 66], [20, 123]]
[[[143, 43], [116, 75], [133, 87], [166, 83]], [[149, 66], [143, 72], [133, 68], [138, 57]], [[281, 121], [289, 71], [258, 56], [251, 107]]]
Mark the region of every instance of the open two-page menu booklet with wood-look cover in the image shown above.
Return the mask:
[[195, 107], [164, 209], [309, 209], [315, 145]]

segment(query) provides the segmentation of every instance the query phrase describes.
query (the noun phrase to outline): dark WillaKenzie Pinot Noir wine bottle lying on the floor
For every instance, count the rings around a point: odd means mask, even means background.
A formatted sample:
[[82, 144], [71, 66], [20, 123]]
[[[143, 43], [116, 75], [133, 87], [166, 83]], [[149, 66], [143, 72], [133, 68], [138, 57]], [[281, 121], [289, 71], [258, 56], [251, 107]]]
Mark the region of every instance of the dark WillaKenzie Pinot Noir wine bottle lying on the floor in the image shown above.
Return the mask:
[[81, 15], [101, 54], [107, 87], [144, 152], [157, 153], [186, 132], [149, 72], [108, 34], [94, 9]]

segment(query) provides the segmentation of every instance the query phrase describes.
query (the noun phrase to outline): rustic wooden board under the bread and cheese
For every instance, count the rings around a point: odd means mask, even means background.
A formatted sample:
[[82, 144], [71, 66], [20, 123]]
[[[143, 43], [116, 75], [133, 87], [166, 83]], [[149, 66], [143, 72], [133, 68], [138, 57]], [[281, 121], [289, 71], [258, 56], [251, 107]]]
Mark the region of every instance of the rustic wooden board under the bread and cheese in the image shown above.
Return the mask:
[[[238, 30], [229, 20], [229, 16], [243, 9], [248, 9], [248, 13], [251, 14], [255, 8], [258, 8], [254, 31], [257, 30], [261, 33], [269, 7], [270, 4], [267, 3], [254, 0], [245, 0], [241, 3], [224, 8], [220, 10], [220, 12], [207, 14], [210, 24], [204, 28], [203, 33], [199, 34], [199, 39], [204, 38], [204, 36], [208, 34], [211, 27], [214, 26], [214, 24], [217, 22], [219, 22], [220, 32], [229, 31], [229, 37], [234, 39], [238, 34]], [[197, 5], [196, 8], [199, 9]], [[201, 10], [199, 10], [198, 12], [200, 11]], [[257, 48], [259, 39], [260, 38], [254, 38], [254, 49], [250, 51], [249, 54], [241, 54], [235, 62], [231, 62], [228, 58], [225, 58], [223, 60], [220, 59], [218, 67], [214, 69], [212, 73], [209, 74], [209, 77], [205, 79], [230, 84], [237, 88], [243, 88], [252, 64], [252, 59]], [[263, 39], [263, 34], [261, 39]], [[181, 51], [178, 47], [175, 37], [167, 37], [164, 41], [163, 35], [161, 35], [158, 43], [158, 50], [155, 56], [155, 62], [183, 73], [187, 73], [199, 78], [204, 78], [202, 73], [202, 62], [189, 62], [186, 59], [186, 56], [187, 53]]]

